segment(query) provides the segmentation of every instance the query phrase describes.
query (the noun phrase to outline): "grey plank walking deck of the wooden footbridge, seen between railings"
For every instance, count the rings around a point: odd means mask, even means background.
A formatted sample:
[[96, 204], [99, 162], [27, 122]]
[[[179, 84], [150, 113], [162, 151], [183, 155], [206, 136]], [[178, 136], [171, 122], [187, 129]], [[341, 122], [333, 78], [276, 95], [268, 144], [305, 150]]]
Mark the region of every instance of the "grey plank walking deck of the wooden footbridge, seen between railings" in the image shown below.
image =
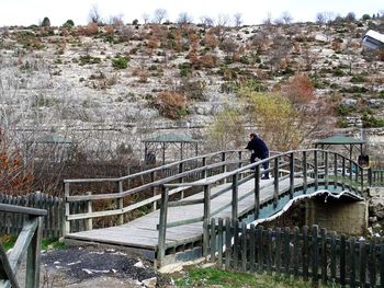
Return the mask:
[[[302, 184], [302, 178], [295, 178], [295, 184]], [[231, 185], [230, 183], [222, 184], [213, 187], [211, 194], [214, 194], [218, 189], [223, 188], [223, 185]], [[255, 181], [250, 180], [238, 186], [238, 195], [242, 195], [253, 189]], [[281, 181], [279, 183], [280, 191], [287, 188], [290, 185], [289, 180]], [[273, 195], [273, 180], [262, 180], [260, 183], [260, 203], [263, 203], [271, 198]], [[203, 193], [195, 194], [188, 197], [201, 198]], [[231, 191], [224, 193], [223, 195], [212, 199], [211, 211], [222, 207], [224, 204], [231, 201]], [[253, 195], [239, 200], [238, 203], [238, 215], [249, 212], [253, 207]], [[183, 219], [190, 219], [193, 217], [201, 217], [203, 215], [203, 204], [170, 207], [168, 208], [168, 222], [180, 221]], [[230, 217], [231, 207], [227, 207], [215, 217]], [[93, 229], [90, 231], [82, 231], [77, 233], [70, 233], [66, 235], [67, 239], [97, 242], [104, 244], [123, 245], [127, 247], [145, 249], [150, 251], [157, 251], [158, 246], [158, 234], [157, 224], [159, 223], [159, 210], [150, 212], [146, 216], [137, 218], [131, 222], [127, 222], [117, 227], [110, 227], [103, 229]], [[181, 227], [167, 228], [166, 246], [176, 247], [185, 243], [192, 243], [201, 240], [203, 234], [202, 222], [184, 224]]]

